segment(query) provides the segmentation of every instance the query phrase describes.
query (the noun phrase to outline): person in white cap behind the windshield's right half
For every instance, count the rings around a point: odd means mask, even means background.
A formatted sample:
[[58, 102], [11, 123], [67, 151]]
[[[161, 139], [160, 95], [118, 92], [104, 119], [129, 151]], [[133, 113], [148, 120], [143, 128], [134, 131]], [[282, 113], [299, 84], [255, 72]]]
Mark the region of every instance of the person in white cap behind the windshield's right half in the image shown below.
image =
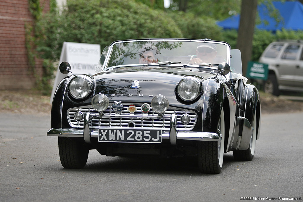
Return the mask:
[[211, 43], [205, 43], [198, 45], [196, 49], [196, 58], [192, 58], [189, 64], [200, 64], [200, 63], [213, 63], [217, 55], [216, 45]]

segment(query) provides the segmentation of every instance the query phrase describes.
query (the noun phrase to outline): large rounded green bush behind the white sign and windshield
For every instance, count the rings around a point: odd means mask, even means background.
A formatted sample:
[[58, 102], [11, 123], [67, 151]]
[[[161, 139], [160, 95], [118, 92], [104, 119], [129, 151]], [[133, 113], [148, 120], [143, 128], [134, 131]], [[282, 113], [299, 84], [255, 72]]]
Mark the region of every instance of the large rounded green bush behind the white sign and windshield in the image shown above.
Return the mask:
[[64, 41], [100, 44], [132, 38], [183, 38], [164, 11], [123, 0], [70, 0], [61, 15], [47, 14], [38, 22], [44, 58], [58, 60]]

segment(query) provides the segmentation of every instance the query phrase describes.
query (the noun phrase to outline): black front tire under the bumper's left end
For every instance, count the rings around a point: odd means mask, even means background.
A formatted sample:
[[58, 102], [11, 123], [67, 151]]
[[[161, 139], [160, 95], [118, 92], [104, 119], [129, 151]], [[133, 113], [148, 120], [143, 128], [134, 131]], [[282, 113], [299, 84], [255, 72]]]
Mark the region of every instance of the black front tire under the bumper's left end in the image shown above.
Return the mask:
[[64, 168], [83, 168], [88, 158], [88, 148], [84, 142], [68, 137], [58, 137], [59, 156]]

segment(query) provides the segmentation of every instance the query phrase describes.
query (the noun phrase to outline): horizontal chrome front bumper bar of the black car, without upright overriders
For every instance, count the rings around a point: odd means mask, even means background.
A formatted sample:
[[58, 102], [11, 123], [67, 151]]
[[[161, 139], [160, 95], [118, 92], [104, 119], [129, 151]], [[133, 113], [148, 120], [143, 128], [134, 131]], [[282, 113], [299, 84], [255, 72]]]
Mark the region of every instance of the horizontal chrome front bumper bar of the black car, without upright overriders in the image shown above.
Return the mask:
[[[113, 127], [114, 129], [114, 127]], [[121, 129], [117, 127], [117, 129]], [[70, 129], [63, 129], [63, 128], [52, 128], [47, 132], [47, 136], [62, 136], [62, 137], [84, 137], [83, 136], [83, 129], [77, 128], [70, 128]], [[98, 137], [98, 130], [91, 131], [91, 137], [97, 138]], [[162, 130], [162, 139], [169, 139], [169, 131]], [[177, 140], [195, 140], [195, 141], [218, 141], [219, 136], [216, 133], [209, 133], [209, 132], [195, 132], [195, 131], [184, 131], [184, 132], [177, 132]]]

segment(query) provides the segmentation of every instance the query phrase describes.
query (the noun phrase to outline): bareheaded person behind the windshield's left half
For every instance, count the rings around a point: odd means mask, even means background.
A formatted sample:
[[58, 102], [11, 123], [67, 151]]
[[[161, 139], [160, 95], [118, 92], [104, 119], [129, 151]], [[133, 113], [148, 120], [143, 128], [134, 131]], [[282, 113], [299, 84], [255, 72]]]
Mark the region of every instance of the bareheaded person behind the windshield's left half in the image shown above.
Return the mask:
[[158, 59], [156, 59], [155, 55], [157, 53], [157, 47], [151, 44], [146, 44], [142, 46], [139, 50], [139, 63], [140, 64], [150, 64], [157, 63]]

